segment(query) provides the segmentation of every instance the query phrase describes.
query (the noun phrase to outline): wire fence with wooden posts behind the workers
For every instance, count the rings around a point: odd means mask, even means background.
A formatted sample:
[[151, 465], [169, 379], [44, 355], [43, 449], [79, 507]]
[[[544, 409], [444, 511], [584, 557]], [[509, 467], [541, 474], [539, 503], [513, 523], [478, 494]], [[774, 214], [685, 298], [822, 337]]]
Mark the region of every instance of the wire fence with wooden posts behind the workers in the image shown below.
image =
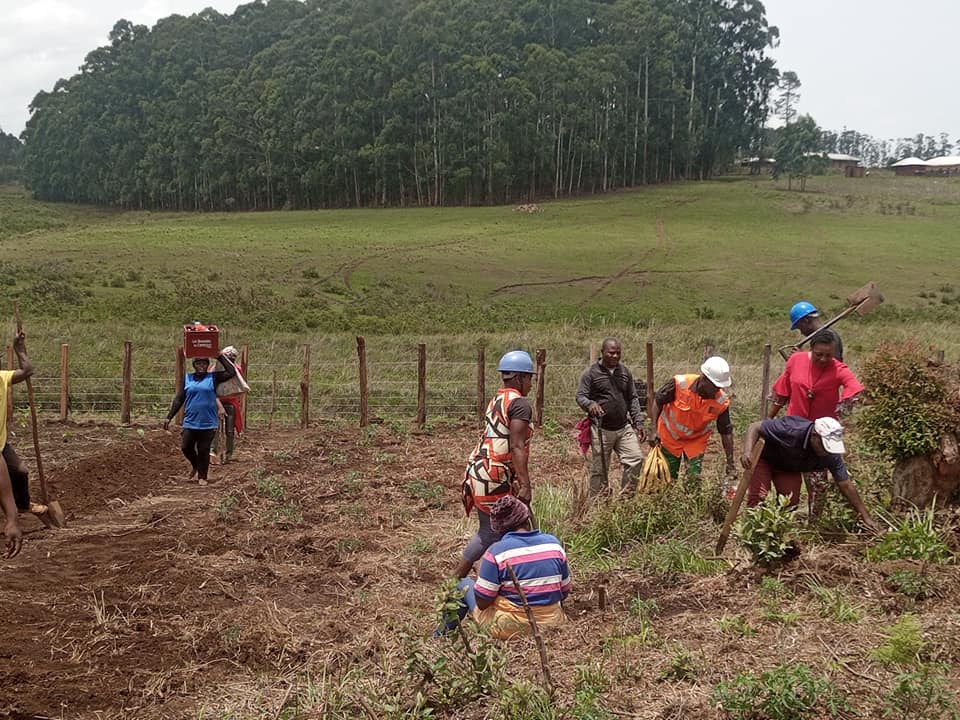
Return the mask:
[[[330, 420], [431, 424], [478, 418], [500, 385], [495, 360], [487, 361], [482, 351], [473, 360], [448, 360], [430, 357], [424, 346], [419, 348], [419, 357], [417, 349], [412, 350], [398, 350], [389, 339], [383, 339], [382, 345], [372, 347], [362, 357], [311, 362], [306, 350], [301, 362], [275, 363], [266, 359], [267, 353], [258, 356], [253, 348], [246, 356], [245, 378], [250, 385], [247, 421], [258, 426], [294, 426]], [[709, 350], [705, 348], [704, 353]], [[576, 405], [576, 388], [588, 359], [570, 362], [565, 358], [554, 363], [549, 349], [541, 352], [546, 359], [538, 380], [542, 387], [535, 388], [531, 398], [542, 398], [543, 419], [578, 415], [581, 411]], [[594, 352], [589, 351], [591, 355]], [[760, 412], [765, 391], [762, 352], [758, 350], [758, 362], [734, 367], [735, 414], [756, 417]], [[118, 352], [117, 360], [71, 361], [63, 350], [60, 363], [48, 362], [51, 358], [32, 358], [38, 413], [64, 420], [96, 416], [121, 422], [126, 382], [131, 421], [146, 424], [163, 419], [175, 394], [176, 351], [171, 350], [168, 358], [137, 357], [133, 348], [136, 361], [131, 361], [127, 373], [120, 355]], [[285, 357], [289, 359], [289, 355]], [[5, 367], [11, 367], [9, 352], [6, 360]], [[676, 373], [696, 372], [700, 360], [658, 360], [654, 389]], [[635, 365], [632, 370], [641, 392], [645, 392], [645, 368]], [[27, 393], [19, 387], [14, 386], [11, 393], [12, 411], [27, 409]]]

